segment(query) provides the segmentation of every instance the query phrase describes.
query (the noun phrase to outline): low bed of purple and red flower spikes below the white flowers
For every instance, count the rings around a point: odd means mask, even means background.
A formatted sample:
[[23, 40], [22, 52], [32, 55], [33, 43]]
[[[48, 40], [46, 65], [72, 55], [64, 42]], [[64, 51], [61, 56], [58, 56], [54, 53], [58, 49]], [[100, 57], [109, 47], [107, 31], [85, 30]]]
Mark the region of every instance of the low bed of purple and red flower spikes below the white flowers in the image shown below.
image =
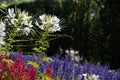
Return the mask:
[[[54, 55], [52, 57], [53, 61], [48, 62], [39, 61], [38, 56], [35, 55], [10, 54], [9, 59], [13, 61], [10, 69], [12, 77], [27, 75], [28, 80], [37, 80], [36, 68], [27, 64], [28, 61], [34, 61], [40, 65], [40, 72], [50, 77], [48, 80], [120, 80], [119, 70], [111, 71], [107, 65], [94, 65], [89, 62], [84, 62], [83, 64], [78, 63], [71, 60], [69, 55], [66, 55], [65, 58]], [[4, 62], [0, 65], [6, 66]], [[4, 67], [2, 72], [5, 73], [6, 69], [7, 68]], [[13, 80], [20, 80], [18, 79], [19, 77], [15, 78], [17, 79]], [[26, 77], [23, 80], [26, 80]]]

